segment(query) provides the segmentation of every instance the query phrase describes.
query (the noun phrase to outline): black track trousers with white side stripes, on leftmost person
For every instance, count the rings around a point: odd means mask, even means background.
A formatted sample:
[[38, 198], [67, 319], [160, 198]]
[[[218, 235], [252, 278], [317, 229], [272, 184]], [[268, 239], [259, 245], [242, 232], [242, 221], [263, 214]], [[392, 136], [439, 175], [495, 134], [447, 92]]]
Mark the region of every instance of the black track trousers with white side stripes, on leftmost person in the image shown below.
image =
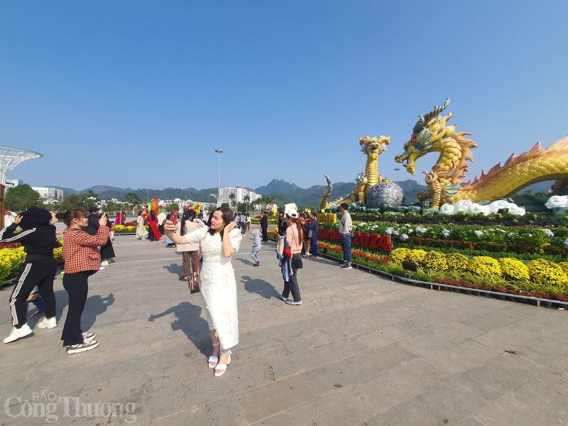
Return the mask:
[[[33, 255], [28, 255], [31, 256]], [[26, 324], [26, 312], [28, 312], [26, 300], [36, 285], [45, 304], [45, 317], [55, 317], [53, 280], [57, 271], [58, 266], [53, 257], [45, 256], [45, 259], [41, 260], [24, 261], [10, 295], [10, 312], [14, 327], [20, 328]]]

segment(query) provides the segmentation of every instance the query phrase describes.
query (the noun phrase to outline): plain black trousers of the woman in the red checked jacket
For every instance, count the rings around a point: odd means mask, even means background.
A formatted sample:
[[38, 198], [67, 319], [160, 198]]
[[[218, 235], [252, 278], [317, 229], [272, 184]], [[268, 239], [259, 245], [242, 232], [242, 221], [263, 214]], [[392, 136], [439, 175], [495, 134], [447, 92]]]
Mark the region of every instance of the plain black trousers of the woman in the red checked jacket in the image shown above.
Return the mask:
[[87, 301], [89, 285], [87, 280], [94, 271], [82, 271], [77, 273], [66, 273], [63, 275], [63, 288], [69, 295], [69, 308], [67, 318], [61, 334], [63, 346], [83, 343], [83, 330], [81, 329], [81, 315], [84, 310], [84, 303]]

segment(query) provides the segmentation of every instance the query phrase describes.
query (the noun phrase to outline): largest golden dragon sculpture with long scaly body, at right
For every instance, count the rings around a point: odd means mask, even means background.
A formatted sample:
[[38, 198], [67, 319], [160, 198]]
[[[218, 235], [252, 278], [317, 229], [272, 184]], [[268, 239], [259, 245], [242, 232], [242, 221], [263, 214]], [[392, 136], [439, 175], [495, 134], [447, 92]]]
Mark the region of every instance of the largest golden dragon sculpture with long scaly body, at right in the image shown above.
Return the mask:
[[446, 126], [452, 113], [440, 116], [449, 105], [449, 99], [441, 107], [435, 107], [425, 116], [419, 116], [410, 140], [404, 144], [404, 153], [395, 161], [403, 163], [414, 175], [415, 161], [427, 153], [439, 152], [439, 158], [426, 174], [428, 192], [419, 192], [418, 199], [432, 198], [432, 208], [459, 200], [480, 202], [498, 200], [513, 192], [546, 180], [557, 180], [555, 189], [568, 184], [568, 137], [559, 139], [546, 149], [537, 142], [529, 151], [510, 156], [505, 164], [498, 163], [488, 173], [473, 182], [462, 182], [468, 161], [473, 162], [471, 150], [477, 145], [466, 138], [469, 133], [457, 132], [456, 125]]

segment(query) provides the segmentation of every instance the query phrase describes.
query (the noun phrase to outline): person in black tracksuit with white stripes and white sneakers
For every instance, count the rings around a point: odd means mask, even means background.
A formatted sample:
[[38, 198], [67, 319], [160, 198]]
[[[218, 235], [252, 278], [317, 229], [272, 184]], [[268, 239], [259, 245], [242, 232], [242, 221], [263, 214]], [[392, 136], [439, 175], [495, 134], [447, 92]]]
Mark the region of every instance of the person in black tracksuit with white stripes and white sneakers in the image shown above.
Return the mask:
[[[3, 243], [20, 243], [26, 252], [16, 285], [10, 296], [10, 312], [13, 329], [4, 343], [15, 342], [32, 333], [28, 325], [26, 300], [37, 285], [45, 304], [45, 318], [38, 323], [39, 328], [57, 327], [55, 320], [55, 295], [53, 280], [58, 266], [53, 258], [53, 249], [60, 247], [55, 237], [55, 226], [50, 224], [51, 213], [38, 207], [31, 207], [16, 216], [13, 224], [0, 231]], [[21, 227], [21, 232], [15, 233]]]

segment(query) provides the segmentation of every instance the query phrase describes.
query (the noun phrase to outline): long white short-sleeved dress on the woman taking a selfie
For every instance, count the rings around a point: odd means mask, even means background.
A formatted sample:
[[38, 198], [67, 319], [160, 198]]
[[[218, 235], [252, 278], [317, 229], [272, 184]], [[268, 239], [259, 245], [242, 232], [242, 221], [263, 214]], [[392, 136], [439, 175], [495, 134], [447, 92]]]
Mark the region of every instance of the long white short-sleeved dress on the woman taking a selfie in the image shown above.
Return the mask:
[[[199, 243], [203, 255], [201, 295], [205, 302], [209, 329], [215, 329], [222, 349], [239, 343], [239, 312], [236, 309], [236, 280], [231, 258], [223, 256], [220, 234], [209, 234], [209, 227], [184, 235], [189, 244]], [[243, 236], [239, 229], [229, 232], [231, 246], [239, 251]]]

